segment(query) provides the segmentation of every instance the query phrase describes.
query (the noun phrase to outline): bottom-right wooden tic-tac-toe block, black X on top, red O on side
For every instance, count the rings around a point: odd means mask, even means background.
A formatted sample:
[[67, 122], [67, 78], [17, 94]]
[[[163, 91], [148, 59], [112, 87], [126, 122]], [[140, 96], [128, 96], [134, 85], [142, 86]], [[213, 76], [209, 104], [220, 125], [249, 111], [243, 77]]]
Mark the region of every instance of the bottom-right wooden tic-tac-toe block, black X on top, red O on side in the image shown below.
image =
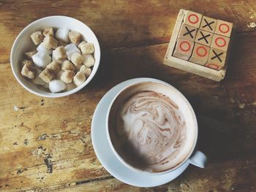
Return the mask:
[[227, 52], [211, 48], [206, 66], [211, 69], [219, 70], [225, 66]]

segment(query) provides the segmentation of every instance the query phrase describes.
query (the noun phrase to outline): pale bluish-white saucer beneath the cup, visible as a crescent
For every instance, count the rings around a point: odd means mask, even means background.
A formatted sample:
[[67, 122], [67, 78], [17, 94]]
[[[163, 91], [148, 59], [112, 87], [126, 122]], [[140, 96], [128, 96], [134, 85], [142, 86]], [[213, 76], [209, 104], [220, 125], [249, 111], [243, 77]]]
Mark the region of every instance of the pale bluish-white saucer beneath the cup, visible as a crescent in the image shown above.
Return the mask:
[[150, 175], [150, 174], [142, 174], [138, 172], [134, 172], [124, 166], [121, 161], [116, 158], [114, 153], [112, 152], [110, 145], [108, 144], [108, 139], [106, 135], [106, 127], [105, 127], [105, 119], [108, 111], [108, 107], [110, 101], [112, 101], [113, 97], [121, 91], [125, 86], [138, 81], [154, 81], [154, 82], [162, 82], [160, 80], [155, 80], [151, 78], [136, 78], [132, 80], [127, 80], [125, 82], [121, 82], [115, 87], [111, 88], [105, 96], [99, 101], [97, 108], [94, 112], [94, 117], [91, 123], [91, 139], [92, 144], [94, 146], [94, 151], [97, 155], [102, 166], [116, 177], [116, 179], [121, 180], [123, 183], [127, 183], [129, 185], [134, 185], [137, 187], [154, 187], [157, 185], [163, 185], [165, 183], [174, 180], [178, 177], [182, 172], [187, 169], [189, 166], [188, 162], [185, 162], [178, 169], [173, 172], [169, 172], [167, 174], [159, 174], [159, 175]]

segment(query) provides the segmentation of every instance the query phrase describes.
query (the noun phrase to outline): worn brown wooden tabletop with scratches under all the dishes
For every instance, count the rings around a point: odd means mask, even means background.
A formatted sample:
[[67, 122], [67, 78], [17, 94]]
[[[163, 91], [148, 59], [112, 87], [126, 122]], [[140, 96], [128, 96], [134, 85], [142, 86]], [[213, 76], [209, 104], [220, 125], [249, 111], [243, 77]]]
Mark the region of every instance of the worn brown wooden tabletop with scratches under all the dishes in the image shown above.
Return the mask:
[[[162, 64], [179, 9], [235, 24], [225, 80]], [[102, 60], [83, 91], [35, 96], [12, 75], [18, 33], [48, 15], [69, 15], [97, 35]], [[256, 191], [256, 1], [0, 1], [0, 191]], [[91, 118], [118, 82], [154, 77], [187, 96], [199, 122], [206, 169], [189, 168], [158, 188], [112, 177], [91, 144]]]

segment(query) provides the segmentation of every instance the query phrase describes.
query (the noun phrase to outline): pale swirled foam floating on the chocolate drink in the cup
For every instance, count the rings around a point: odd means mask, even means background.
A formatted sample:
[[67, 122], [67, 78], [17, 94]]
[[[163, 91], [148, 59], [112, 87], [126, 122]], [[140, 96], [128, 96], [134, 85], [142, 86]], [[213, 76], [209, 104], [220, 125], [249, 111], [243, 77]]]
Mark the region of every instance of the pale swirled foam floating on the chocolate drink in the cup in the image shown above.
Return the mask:
[[178, 106], [161, 93], [135, 93], [119, 114], [122, 126], [118, 126], [117, 135], [143, 156], [147, 166], [167, 164], [184, 144], [184, 118]]

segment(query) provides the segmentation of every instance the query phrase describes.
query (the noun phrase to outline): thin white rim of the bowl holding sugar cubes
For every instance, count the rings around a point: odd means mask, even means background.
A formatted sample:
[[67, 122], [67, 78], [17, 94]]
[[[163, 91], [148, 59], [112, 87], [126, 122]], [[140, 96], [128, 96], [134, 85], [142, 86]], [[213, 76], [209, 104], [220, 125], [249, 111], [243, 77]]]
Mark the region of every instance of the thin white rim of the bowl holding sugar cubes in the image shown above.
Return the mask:
[[[18, 75], [16, 74], [15, 72], [15, 69], [14, 69], [14, 62], [13, 62], [13, 57], [15, 56], [15, 47], [17, 47], [18, 43], [20, 42], [20, 39], [22, 39], [23, 37], [23, 34], [26, 32], [26, 30], [28, 28], [30, 28], [31, 26], [37, 24], [37, 23], [40, 23], [42, 22], [42, 20], [48, 20], [48, 19], [52, 19], [52, 18], [68, 18], [68, 19], [71, 19], [71, 20], [75, 20], [76, 22], [78, 23], [81, 23], [83, 26], [85, 26], [86, 28], [88, 28], [88, 30], [91, 32], [91, 34], [95, 37], [95, 39], [97, 40], [96, 42], [94, 42], [94, 47], [98, 47], [99, 48], [99, 59], [97, 60], [97, 62], [95, 61], [95, 64], [94, 64], [94, 74], [91, 76], [91, 79], [89, 80], [86, 80], [85, 82], [83, 82], [82, 85], [79, 85], [77, 88], [74, 88], [70, 91], [66, 91], [66, 92], [63, 92], [63, 93], [39, 93], [37, 91], [34, 91], [33, 89], [29, 88], [29, 86], [23, 84], [23, 82], [20, 80], [20, 78], [18, 77]], [[99, 69], [99, 64], [100, 64], [100, 58], [101, 58], [101, 51], [100, 51], [100, 46], [99, 46], [99, 41], [97, 39], [97, 36], [94, 34], [94, 31], [91, 30], [91, 28], [89, 28], [89, 26], [87, 26], [85, 23], [83, 23], [82, 21], [78, 20], [78, 19], [75, 19], [75, 18], [72, 18], [72, 17], [69, 17], [69, 16], [65, 16], [65, 15], [52, 15], [52, 16], [48, 16], [48, 17], [45, 17], [45, 18], [39, 18], [38, 20], [34, 20], [32, 23], [29, 23], [28, 26], [26, 26], [25, 28], [23, 28], [22, 31], [20, 31], [20, 33], [18, 34], [18, 36], [15, 38], [15, 41], [13, 42], [12, 44], [12, 49], [11, 49], [11, 53], [10, 53], [10, 64], [11, 64], [11, 68], [12, 68], [12, 74], [14, 74], [16, 80], [18, 80], [18, 82], [20, 83], [20, 85], [23, 86], [23, 88], [25, 88], [27, 91], [29, 91], [30, 93], [34, 93], [35, 95], [37, 96], [43, 96], [43, 97], [48, 97], [48, 98], [59, 98], [59, 97], [62, 97], [62, 96], [69, 96], [71, 95], [72, 93], [76, 93], [78, 91], [80, 91], [82, 88], [86, 87], [86, 85], [89, 84], [89, 82], [91, 82], [91, 80], [93, 79], [94, 75], [97, 73], [97, 70]], [[93, 70], [92, 70], [93, 71]]]

